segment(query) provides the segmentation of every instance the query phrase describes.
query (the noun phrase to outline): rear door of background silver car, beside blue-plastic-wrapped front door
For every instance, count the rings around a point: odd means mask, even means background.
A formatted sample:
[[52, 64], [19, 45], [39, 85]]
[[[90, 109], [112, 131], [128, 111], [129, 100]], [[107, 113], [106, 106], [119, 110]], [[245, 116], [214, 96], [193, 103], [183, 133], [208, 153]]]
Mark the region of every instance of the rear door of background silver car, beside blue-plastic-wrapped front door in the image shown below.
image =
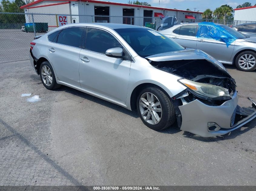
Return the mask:
[[182, 25], [173, 30], [170, 38], [184, 48], [196, 48], [197, 44], [197, 24]]

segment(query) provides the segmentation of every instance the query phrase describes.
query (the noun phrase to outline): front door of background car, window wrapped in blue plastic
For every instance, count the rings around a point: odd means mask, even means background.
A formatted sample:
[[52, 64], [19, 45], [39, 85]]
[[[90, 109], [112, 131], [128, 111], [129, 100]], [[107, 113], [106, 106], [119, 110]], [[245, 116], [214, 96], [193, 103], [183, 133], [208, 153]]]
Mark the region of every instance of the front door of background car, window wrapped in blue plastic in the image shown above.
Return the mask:
[[[200, 34], [197, 35], [198, 39], [196, 48], [208, 53], [218, 61], [230, 62], [235, 41], [227, 46], [223, 40], [213, 39], [213, 37], [219, 36], [221, 34], [218, 28], [204, 25], [199, 27], [201, 27], [201, 29], [198, 30], [198, 33]], [[226, 33], [223, 33], [222, 35], [229, 38], [229, 35]]]

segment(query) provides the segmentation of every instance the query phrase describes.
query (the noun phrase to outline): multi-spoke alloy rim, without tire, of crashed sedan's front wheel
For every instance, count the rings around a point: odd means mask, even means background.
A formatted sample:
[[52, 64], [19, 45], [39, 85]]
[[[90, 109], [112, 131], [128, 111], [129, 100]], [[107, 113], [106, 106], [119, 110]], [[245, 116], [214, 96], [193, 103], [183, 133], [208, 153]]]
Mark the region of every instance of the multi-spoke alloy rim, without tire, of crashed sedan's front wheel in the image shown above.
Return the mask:
[[151, 124], [156, 125], [160, 122], [162, 116], [162, 107], [158, 98], [150, 93], [145, 92], [139, 100], [139, 107], [143, 119]]

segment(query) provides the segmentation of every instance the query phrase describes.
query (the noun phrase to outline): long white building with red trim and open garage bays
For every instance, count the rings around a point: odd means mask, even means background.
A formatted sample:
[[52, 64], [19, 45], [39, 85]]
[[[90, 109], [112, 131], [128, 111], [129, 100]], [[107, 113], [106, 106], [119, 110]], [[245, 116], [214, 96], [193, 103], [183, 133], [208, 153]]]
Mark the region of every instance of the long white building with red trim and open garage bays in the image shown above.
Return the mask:
[[[145, 22], [159, 25], [161, 21], [158, 16], [173, 16], [179, 18], [179, 22], [202, 19], [202, 12], [96, 0], [37, 0], [21, 8], [25, 13], [73, 15], [68, 16], [68, 23], [111, 22], [145, 26]], [[57, 27], [56, 18], [55, 15], [34, 15], [35, 22], [47, 22], [49, 27]], [[31, 16], [26, 16], [26, 22], [32, 22]]]

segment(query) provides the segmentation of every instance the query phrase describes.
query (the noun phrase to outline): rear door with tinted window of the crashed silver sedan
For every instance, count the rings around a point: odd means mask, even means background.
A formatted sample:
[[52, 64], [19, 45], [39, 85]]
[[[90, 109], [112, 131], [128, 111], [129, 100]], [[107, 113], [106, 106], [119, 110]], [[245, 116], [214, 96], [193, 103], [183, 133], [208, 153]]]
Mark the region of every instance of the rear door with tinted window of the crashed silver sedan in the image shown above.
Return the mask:
[[58, 33], [47, 47], [47, 56], [58, 79], [78, 87], [80, 87], [79, 53], [81, 50], [79, 46], [81, 46], [84, 32], [85, 27], [65, 28]]

